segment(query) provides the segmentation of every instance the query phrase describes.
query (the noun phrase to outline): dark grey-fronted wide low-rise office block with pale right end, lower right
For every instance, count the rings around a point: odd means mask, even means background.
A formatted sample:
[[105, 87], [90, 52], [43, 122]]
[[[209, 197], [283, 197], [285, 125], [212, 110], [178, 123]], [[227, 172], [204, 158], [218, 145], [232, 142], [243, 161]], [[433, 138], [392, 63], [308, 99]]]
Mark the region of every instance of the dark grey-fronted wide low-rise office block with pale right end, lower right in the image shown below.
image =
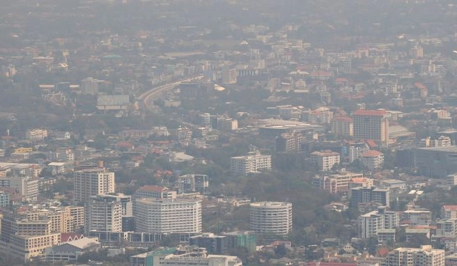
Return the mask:
[[350, 204], [358, 205], [359, 203], [376, 203], [388, 207], [390, 191], [377, 187], [354, 187], [350, 189]]

